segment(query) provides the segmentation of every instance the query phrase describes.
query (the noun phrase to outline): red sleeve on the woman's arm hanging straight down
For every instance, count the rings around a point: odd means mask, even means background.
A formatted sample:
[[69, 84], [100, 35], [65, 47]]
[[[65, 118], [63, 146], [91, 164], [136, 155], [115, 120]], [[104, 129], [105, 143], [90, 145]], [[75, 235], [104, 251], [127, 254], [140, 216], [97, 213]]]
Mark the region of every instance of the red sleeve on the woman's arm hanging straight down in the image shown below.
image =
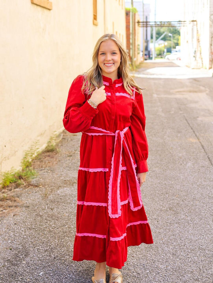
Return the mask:
[[133, 152], [137, 163], [137, 173], [147, 172], [148, 143], [145, 134], [145, 113], [143, 96], [135, 92], [135, 106], [131, 117], [131, 134], [133, 141]]

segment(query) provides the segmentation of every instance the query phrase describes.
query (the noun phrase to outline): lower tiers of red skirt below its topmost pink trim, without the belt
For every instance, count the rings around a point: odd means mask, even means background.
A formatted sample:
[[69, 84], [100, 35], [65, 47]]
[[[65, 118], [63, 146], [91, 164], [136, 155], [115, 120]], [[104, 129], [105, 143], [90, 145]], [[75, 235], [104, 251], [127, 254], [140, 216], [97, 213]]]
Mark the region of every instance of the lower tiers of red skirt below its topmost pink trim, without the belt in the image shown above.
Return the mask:
[[109, 217], [109, 171], [79, 168], [73, 260], [106, 261], [110, 267], [121, 268], [127, 260], [128, 246], [151, 244], [153, 240], [144, 206], [137, 211], [130, 208], [125, 166], [120, 179], [121, 216]]

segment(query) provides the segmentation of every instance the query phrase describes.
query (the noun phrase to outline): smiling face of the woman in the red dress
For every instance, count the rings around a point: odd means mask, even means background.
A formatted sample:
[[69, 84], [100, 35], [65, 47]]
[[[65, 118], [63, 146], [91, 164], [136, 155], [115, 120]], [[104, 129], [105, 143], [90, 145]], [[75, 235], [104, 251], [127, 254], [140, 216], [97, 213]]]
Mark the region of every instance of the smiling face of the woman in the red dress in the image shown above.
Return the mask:
[[114, 40], [102, 41], [98, 51], [98, 65], [102, 75], [117, 79], [117, 69], [120, 65], [121, 54]]

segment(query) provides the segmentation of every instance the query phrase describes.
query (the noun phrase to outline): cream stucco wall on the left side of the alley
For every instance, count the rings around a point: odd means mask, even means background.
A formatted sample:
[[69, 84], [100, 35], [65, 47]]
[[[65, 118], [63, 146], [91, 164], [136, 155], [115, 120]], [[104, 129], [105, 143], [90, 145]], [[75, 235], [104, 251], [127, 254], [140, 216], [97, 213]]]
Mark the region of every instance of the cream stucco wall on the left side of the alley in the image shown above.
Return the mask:
[[97, 39], [117, 32], [126, 45], [124, 1], [97, 0], [97, 26], [93, 0], [52, 3], [48, 10], [30, 0], [1, 2], [1, 172], [63, 129], [69, 87], [91, 67]]

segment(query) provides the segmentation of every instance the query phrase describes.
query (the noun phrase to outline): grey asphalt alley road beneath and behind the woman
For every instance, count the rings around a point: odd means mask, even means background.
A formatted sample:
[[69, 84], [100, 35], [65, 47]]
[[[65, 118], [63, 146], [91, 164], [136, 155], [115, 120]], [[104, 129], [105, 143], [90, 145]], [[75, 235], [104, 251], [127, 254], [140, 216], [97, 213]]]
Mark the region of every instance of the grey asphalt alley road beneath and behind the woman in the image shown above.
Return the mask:
[[[212, 282], [213, 78], [172, 62], [145, 62], [149, 144], [142, 199], [154, 244], [128, 248], [125, 283]], [[72, 261], [81, 134], [64, 132], [21, 208], [0, 219], [0, 282], [89, 283], [95, 263]], [[109, 278], [107, 274], [107, 279]]]

